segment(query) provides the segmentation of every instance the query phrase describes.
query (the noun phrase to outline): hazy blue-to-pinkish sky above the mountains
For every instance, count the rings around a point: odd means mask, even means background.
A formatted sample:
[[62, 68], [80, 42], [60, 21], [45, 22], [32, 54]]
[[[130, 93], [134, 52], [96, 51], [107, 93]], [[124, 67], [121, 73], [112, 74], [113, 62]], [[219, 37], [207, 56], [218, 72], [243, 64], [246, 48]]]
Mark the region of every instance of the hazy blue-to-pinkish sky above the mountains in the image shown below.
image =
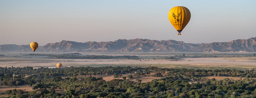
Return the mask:
[[[0, 45], [39, 46], [62, 40], [229, 42], [256, 37], [256, 0], [0, 0]], [[178, 36], [168, 19], [191, 12]]]

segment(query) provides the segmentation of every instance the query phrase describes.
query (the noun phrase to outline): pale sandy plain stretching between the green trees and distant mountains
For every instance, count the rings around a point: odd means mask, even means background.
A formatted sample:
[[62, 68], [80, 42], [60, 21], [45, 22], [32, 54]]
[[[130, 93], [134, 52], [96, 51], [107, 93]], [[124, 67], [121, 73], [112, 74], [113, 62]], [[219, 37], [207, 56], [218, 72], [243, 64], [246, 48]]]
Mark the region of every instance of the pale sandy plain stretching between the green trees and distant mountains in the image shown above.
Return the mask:
[[240, 58], [184, 58], [180, 61], [170, 60], [122, 60], [122, 59], [41, 59], [25, 57], [0, 57], [0, 67], [26, 67], [33, 68], [49, 67], [56, 68], [57, 63], [64, 67], [70, 66], [157, 66], [159, 68], [256, 68], [256, 57]]

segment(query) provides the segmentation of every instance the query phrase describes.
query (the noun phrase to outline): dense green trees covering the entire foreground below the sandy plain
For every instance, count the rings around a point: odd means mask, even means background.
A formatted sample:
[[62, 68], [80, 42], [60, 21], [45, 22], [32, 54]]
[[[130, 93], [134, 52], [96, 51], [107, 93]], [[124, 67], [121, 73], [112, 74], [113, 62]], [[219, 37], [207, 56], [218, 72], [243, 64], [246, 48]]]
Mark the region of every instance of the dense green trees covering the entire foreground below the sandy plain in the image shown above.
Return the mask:
[[[136, 73], [135, 73], [136, 72]], [[154, 77], [151, 82], [129, 81], [134, 77]], [[13, 81], [12, 74], [15, 73]], [[134, 74], [135, 73], [135, 74]], [[122, 77], [122, 74], [132, 74]], [[29, 75], [29, 77], [26, 77]], [[105, 81], [102, 75], [116, 78]], [[98, 78], [95, 78], [95, 77]], [[240, 77], [240, 80], [225, 78], [208, 79], [204, 76]], [[245, 77], [242, 79], [242, 77]], [[29, 85], [34, 91], [7, 90], [13, 98], [29, 96], [42, 98], [255, 98], [255, 70], [230, 69], [168, 69], [157, 67], [64, 67], [59, 68], [1, 68], [0, 82], [5, 86]], [[193, 83], [191, 83], [193, 82]], [[64, 94], [56, 93], [64, 91]]]

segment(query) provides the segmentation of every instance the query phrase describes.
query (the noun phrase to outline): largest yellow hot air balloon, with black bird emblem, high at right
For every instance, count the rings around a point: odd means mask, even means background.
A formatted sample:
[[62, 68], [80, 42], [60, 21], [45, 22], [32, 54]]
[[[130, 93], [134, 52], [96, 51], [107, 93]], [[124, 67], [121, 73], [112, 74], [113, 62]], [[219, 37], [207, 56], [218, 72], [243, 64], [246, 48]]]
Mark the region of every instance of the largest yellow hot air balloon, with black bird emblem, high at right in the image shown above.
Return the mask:
[[174, 28], [179, 32], [178, 35], [181, 35], [181, 31], [185, 28], [190, 20], [191, 14], [188, 8], [177, 6], [172, 8], [168, 13], [168, 18]]

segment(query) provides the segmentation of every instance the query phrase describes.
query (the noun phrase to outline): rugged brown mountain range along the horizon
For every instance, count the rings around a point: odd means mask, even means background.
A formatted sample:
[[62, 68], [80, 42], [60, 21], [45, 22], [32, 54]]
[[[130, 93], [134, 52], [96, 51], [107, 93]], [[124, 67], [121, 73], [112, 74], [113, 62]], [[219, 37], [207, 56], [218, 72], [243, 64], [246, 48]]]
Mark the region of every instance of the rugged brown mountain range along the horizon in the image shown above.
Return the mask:
[[[30, 52], [29, 45], [0, 45], [0, 52]], [[256, 37], [230, 42], [192, 44], [175, 40], [66, 41], [39, 46], [36, 52], [256, 52]]]

